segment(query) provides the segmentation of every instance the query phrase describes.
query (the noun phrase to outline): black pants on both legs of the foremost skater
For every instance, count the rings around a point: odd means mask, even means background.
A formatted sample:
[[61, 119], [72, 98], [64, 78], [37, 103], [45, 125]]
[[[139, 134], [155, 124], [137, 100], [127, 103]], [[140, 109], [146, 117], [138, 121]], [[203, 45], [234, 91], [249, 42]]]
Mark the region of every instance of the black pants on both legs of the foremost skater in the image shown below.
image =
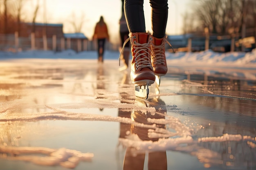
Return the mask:
[[[124, 11], [130, 33], [146, 32], [143, 2], [144, 0], [125, 0], [124, 2]], [[152, 7], [153, 36], [162, 38], [166, 30], [168, 0], [149, 0], [149, 2]]]

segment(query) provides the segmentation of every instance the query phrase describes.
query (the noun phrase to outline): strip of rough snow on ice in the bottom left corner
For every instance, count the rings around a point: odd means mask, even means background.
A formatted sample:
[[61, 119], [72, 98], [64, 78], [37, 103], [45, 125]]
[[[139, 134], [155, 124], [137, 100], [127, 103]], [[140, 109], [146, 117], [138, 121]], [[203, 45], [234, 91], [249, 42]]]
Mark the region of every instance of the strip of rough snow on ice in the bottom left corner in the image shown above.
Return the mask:
[[80, 161], [91, 161], [92, 153], [66, 148], [0, 146], [0, 159], [28, 161], [43, 166], [75, 168]]

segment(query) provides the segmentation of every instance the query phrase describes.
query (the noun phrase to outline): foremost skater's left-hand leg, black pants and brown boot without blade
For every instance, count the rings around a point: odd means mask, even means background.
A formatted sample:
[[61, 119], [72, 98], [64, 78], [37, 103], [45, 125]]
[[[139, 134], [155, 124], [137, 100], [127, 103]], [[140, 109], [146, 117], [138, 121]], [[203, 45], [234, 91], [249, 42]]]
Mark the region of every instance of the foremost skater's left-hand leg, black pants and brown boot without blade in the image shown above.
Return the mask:
[[150, 43], [146, 33], [144, 0], [125, 0], [124, 11], [129, 28], [132, 61], [130, 77], [137, 85], [151, 85], [155, 82], [155, 74], [151, 65]]

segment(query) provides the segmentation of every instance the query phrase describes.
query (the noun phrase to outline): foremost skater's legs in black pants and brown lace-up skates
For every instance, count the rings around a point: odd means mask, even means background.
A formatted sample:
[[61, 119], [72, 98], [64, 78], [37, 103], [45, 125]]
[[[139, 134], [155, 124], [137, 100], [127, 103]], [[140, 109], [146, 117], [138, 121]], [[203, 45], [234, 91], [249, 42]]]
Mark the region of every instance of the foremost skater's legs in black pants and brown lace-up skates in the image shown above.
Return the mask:
[[149, 2], [152, 7], [152, 35], [146, 33], [144, 0], [124, 1], [124, 13], [129, 29], [129, 38], [124, 44], [130, 40], [132, 52], [130, 77], [135, 85], [135, 95], [145, 99], [149, 93], [148, 85], [155, 82], [155, 76], [167, 73], [164, 44], [168, 43], [165, 37], [168, 0]]

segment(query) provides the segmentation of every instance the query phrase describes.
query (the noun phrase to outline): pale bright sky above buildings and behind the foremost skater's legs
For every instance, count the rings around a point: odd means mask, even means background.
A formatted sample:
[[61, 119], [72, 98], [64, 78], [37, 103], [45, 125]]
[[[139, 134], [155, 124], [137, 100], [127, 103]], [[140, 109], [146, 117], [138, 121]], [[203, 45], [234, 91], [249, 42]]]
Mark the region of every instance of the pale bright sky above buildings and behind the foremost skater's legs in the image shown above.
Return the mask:
[[[32, 0], [27, 5], [31, 11], [38, 0]], [[188, 8], [191, 0], [169, 0], [168, 22], [166, 34], [177, 35], [182, 33], [182, 14]], [[84, 15], [82, 31], [86, 37], [92, 38], [94, 26], [103, 15], [109, 28], [110, 41], [119, 40], [119, 19], [121, 17], [121, 0], [39, 0], [40, 8], [36, 22], [62, 23], [64, 33], [73, 33], [74, 27], [70, 21], [81, 22]], [[46, 15], [45, 15], [46, 13]], [[31, 11], [32, 14], [32, 11]], [[151, 7], [149, 0], [144, 1], [146, 30], [151, 31]], [[72, 17], [75, 16], [75, 17]], [[29, 17], [27, 17], [29, 19]]]

